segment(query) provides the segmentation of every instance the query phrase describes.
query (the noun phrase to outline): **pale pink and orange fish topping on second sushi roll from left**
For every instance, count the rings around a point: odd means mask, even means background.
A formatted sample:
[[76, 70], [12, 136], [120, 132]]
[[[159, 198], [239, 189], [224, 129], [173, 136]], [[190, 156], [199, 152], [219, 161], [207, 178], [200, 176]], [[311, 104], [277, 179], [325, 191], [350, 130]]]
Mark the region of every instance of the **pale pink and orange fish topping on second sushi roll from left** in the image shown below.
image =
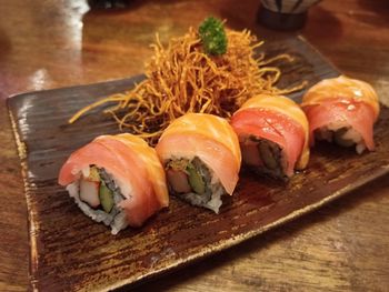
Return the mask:
[[238, 137], [225, 119], [206, 113], [184, 114], [164, 130], [156, 150], [162, 163], [172, 158], [198, 157], [219, 178], [227, 193], [233, 193], [241, 154]]

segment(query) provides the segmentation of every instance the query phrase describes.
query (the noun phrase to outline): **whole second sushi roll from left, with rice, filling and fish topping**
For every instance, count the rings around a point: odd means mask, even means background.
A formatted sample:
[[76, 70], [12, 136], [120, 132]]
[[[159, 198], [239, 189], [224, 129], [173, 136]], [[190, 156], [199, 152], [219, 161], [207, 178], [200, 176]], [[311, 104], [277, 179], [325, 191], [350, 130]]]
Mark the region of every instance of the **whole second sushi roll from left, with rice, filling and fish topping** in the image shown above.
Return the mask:
[[174, 120], [156, 147], [169, 191], [198, 207], [219, 212], [222, 194], [232, 194], [240, 170], [240, 149], [222, 118], [187, 113]]

